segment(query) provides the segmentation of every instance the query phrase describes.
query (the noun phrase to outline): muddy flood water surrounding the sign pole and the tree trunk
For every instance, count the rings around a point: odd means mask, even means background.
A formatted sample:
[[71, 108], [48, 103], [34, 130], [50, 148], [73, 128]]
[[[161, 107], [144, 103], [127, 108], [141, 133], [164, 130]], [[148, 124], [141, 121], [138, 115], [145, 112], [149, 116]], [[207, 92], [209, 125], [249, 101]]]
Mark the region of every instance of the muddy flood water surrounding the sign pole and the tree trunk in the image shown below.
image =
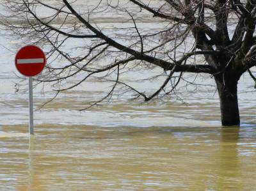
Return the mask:
[[[15, 89], [17, 44], [0, 35], [0, 190], [256, 188], [255, 89], [247, 73], [239, 81], [240, 127], [221, 127], [216, 88], [186, 82], [170, 98], [144, 103], [114, 95], [110, 102], [79, 111], [111, 87], [92, 79], [44, 107], [54, 92], [36, 86], [35, 136], [29, 138], [28, 80]], [[124, 78], [150, 94], [161, 82], [134, 79], [157, 72], [136, 71]], [[195, 75], [186, 77], [195, 82]], [[214, 84], [207, 75], [197, 80]]]

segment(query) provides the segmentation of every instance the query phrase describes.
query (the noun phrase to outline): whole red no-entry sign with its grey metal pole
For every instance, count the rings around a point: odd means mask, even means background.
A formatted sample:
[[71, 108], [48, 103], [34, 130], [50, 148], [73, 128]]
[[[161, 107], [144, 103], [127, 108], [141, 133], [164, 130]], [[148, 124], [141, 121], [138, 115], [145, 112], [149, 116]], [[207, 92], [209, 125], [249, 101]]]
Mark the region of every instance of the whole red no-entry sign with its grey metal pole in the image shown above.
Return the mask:
[[15, 66], [22, 75], [29, 77], [29, 133], [34, 134], [33, 121], [33, 79], [44, 70], [46, 58], [44, 52], [33, 45], [22, 47], [16, 54]]

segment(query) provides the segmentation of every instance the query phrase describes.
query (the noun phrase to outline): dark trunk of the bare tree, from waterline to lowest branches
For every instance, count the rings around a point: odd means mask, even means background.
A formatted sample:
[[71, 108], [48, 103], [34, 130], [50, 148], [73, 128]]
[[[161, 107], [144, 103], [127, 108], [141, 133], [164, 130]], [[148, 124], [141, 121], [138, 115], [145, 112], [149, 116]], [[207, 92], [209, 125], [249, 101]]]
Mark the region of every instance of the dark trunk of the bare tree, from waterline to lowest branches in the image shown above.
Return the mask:
[[239, 108], [237, 101], [238, 80], [215, 79], [220, 96], [221, 123], [223, 126], [239, 125]]

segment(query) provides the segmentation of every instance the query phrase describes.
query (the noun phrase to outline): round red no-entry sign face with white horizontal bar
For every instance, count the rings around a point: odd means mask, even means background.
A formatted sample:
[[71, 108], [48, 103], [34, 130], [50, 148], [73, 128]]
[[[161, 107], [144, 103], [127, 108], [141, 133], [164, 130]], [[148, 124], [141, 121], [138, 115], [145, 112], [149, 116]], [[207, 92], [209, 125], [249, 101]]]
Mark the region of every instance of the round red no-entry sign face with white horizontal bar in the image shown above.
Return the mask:
[[22, 47], [15, 56], [15, 66], [23, 75], [32, 77], [44, 70], [46, 58], [44, 52], [34, 46]]

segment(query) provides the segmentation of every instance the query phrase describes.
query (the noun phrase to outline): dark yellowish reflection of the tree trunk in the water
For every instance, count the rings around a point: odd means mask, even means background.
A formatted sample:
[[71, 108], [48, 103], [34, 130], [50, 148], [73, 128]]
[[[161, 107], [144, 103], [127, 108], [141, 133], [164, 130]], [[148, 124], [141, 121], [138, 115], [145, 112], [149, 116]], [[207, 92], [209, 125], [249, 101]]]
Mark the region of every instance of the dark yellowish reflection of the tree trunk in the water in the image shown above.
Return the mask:
[[218, 177], [216, 185], [221, 190], [243, 190], [241, 181], [241, 164], [238, 158], [237, 142], [239, 128], [221, 128], [220, 150], [216, 154]]

